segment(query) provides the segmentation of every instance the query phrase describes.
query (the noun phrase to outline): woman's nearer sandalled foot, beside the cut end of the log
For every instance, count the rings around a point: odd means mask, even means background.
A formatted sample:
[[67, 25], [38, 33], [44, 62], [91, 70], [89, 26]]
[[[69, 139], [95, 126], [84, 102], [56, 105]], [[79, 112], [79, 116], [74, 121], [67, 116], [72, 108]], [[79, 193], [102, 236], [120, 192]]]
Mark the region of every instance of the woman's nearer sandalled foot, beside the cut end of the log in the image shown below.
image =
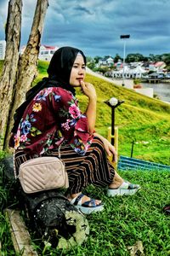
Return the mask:
[[89, 214], [91, 212], [99, 212], [104, 209], [104, 205], [100, 200], [91, 199], [82, 193], [73, 194], [67, 197], [80, 212]]

